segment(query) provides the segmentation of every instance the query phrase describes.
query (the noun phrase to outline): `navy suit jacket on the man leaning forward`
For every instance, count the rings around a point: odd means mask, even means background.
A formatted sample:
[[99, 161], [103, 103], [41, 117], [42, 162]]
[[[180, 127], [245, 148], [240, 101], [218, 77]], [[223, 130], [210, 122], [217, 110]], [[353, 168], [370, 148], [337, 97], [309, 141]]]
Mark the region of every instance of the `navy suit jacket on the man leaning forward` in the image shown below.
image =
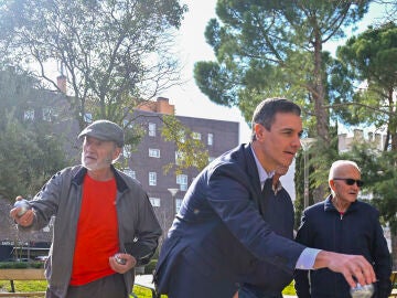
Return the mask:
[[210, 280], [229, 281], [236, 287], [236, 283], [247, 281], [261, 262], [292, 275], [304, 246], [271, 231], [259, 211], [260, 195], [249, 145], [224, 153], [205, 168], [189, 188], [163, 243], [154, 274], [159, 292], [179, 287], [185, 297], [193, 297], [190, 292], [198, 290], [195, 283], [181, 285], [175, 276], [183, 266], [192, 266], [205, 277], [196, 280], [197, 287], [207, 286], [205, 297], [212, 297], [215, 286]]

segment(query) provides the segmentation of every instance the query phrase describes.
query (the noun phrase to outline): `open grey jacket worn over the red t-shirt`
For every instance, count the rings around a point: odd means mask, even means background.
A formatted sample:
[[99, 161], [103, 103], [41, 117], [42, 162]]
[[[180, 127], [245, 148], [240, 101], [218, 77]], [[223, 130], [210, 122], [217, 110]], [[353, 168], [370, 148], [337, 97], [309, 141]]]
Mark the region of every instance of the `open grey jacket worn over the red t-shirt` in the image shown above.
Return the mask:
[[[137, 266], [147, 264], [154, 254], [162, 234], [160, 224], [139, 182], [112, 166], [111, 169], [117, 184], [116, 205], [120, 251], [135, 256]], [[45, 263], [45, 277], [50, 286], [46, 297], [50, 298], [66, 296], [86, 172], [85, 168], [76, 166], [54, 174], [30, 201], [35, 211], [33, 224], [29, 227], [19, 226], [22, 231], [37, 231], [46, 226], [53, 215], [55, 216], [53, 241]], [[98, 204], [100, 204], [99, 200]], [[127, 272], [124, 278], [126, 288], [131, 291], [135, 269]]]

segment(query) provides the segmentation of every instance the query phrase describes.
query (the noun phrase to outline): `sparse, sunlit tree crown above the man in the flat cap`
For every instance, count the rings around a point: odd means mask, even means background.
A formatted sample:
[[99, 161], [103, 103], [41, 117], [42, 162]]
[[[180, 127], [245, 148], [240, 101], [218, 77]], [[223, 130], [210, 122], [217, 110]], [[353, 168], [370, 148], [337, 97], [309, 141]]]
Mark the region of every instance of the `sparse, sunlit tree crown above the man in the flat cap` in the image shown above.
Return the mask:
[[[71, 113], [122, 123], [137, 104], [180, 83], [173, 34], [186, 7], [178, 0], [6, 1], [0, 58], [57, 88], [65, 75]], [[37, 71], [35, 71], [37, 70]]]

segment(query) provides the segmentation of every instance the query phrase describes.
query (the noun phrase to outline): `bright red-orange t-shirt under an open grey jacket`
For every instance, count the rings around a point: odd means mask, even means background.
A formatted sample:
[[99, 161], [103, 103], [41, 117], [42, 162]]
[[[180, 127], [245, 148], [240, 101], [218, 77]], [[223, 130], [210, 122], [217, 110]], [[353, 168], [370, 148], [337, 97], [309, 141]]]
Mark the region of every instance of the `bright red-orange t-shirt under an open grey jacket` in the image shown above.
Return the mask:
[[86, 174], [77, 223], [71, 285], [81, 286], [115, 274], [109, 257], [119, 252], [116, 180], [96, 181]]

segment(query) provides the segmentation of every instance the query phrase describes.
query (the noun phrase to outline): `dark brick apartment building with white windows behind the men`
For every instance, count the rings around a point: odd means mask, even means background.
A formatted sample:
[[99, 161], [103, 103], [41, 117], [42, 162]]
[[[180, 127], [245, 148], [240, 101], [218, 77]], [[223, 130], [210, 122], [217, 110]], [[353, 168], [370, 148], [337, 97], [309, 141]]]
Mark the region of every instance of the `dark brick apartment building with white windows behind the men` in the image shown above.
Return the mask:
[[[162, 117], [174, 114], [174, 106], [169, 104], [168, 98], [159, 97], [157, 102], [141, 105], [135, 113], [135, 118], [142, 125], [146, 134], [136, 150], [125, 148], [125, 157], [129, 162], [124, 170], [136, 178], [148, 192], [160, 224], [167, 232], [198, 170], [191, 168], [179, 174], [173, 170], [164, 172], [167, 164], [178, 160], [175, 145], [161, 137]], [[238, 146], [238, 123], [185, 116], [176, 116], [176, 119], [205, 145], [210, 153], [208, 161]]]

